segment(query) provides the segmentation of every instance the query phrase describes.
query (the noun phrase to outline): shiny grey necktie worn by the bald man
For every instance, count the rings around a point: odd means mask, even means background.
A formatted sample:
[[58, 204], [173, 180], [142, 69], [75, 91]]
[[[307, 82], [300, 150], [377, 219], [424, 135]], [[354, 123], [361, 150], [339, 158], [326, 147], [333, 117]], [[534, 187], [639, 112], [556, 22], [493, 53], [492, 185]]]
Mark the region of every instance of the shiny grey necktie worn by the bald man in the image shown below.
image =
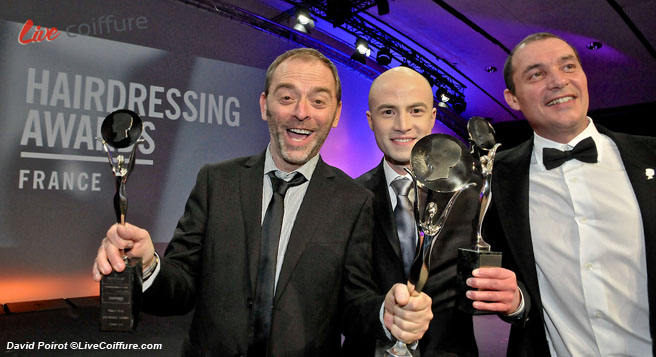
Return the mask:
[[392, 181], [392, 189], [396, 193], [396, 207], [394, 207], [394, 220], [396, 221], [396, 232], [401, 243], [401, 257], [403, 258], [403, 269], [408, 276], [412, 259], [415, 257], [415, 219], [412, 213], [412, 205], [408, 198], [412, 182], [407, 179]]

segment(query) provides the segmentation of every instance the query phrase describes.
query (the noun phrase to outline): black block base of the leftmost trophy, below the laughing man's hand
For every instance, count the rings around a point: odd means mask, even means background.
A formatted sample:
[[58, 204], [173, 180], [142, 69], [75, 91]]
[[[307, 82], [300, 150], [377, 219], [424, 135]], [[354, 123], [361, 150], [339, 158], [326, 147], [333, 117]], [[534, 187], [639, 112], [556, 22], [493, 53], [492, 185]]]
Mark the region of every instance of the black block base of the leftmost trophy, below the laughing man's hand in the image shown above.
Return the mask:
[[100, 330], [131, 332], [141, 315], [141, 258], [127, 258], [125, 270], [100, 280]]

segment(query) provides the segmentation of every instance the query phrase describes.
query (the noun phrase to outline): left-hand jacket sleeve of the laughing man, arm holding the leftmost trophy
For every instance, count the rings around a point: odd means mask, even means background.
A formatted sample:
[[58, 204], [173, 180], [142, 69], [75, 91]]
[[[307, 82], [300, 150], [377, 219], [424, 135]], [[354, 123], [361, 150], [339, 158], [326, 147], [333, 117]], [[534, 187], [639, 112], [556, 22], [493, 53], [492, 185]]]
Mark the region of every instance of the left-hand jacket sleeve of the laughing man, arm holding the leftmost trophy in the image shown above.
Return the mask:
[[161, 259], [160, 272], [144, 292], [143, 311], [146, 313], [185, 314], [194, 307], [207, 221], [209, 181], [206, 166], [198, 173], [184, 214]]

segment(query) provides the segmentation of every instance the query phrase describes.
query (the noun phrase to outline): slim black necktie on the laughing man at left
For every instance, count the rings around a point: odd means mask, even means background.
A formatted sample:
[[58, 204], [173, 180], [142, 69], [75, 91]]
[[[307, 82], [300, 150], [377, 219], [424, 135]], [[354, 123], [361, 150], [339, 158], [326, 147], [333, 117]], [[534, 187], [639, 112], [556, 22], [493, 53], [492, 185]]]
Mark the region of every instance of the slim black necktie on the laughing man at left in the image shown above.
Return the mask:
[[274, 171], [269, 172], [268, 175], [271, 178], [273, 196], [262, 222], [260, 258], [257, 265], [257, 284], [253, 301], [253, 340], [248, 348], [249, 356], [266, 356], [268, 354], [278, 242], [285, 211], [285, 194], [288, 188], [306, 181], [300, 173], [296, 173], [288, 182], [276, 177]]

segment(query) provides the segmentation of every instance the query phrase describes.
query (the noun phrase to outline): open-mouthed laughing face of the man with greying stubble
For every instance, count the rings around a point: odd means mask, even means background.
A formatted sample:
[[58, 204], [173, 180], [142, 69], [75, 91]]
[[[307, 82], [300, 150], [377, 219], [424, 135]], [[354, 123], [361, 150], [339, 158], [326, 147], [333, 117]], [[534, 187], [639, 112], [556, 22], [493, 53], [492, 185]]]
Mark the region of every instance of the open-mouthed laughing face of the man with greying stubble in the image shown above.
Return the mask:
[[280, 63], [267, 89], [260, 112], [269, 124], [271, 156], [278, 169], [291, 172], [319, 153], [342, 103], [331, 70], [307, 56]]

